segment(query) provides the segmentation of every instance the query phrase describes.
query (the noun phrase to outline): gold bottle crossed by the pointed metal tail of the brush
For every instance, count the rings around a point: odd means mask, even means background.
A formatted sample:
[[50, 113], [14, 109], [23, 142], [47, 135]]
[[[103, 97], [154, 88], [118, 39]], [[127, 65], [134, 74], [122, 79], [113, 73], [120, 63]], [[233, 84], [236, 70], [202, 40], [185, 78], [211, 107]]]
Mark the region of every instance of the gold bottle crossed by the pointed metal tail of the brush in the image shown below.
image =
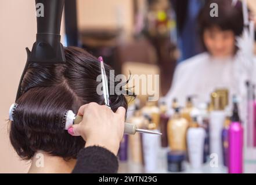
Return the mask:
[[[129, 123], [135, 124], [137, 128], [143, 128], [145, 118], [141, 115], [138, 107], [136, 107], [134, 116], [132, 116], [128, 121]], [[143, 164], [141, 134], [137, 132], [135, 135], [129, 135], [128, 138], [129, 154], [131, 154], [132, 162], [135, 164]]]

